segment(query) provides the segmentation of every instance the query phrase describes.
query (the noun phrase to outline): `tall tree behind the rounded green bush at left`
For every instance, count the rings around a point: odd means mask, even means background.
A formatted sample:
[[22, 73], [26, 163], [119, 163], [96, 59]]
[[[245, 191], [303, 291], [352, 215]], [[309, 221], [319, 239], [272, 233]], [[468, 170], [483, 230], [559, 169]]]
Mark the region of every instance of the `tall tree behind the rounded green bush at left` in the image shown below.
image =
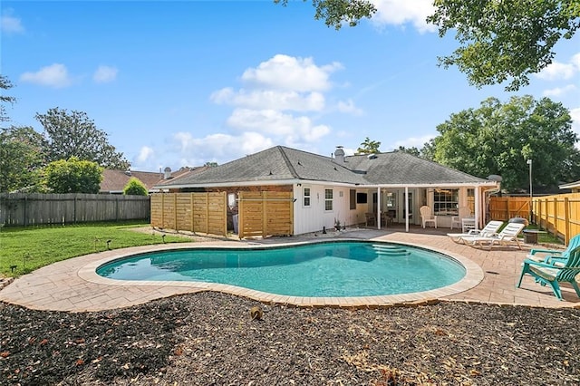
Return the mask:
[[131, 166], [123, 153], [109, 144], [107, 133], [97, 129], [85, 112], [54, 108], [35, 118], [46, 132], [49, 160], [76, 157], [107, 169], [126, 170]]

